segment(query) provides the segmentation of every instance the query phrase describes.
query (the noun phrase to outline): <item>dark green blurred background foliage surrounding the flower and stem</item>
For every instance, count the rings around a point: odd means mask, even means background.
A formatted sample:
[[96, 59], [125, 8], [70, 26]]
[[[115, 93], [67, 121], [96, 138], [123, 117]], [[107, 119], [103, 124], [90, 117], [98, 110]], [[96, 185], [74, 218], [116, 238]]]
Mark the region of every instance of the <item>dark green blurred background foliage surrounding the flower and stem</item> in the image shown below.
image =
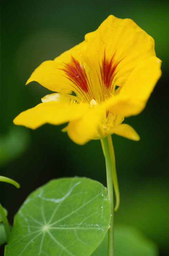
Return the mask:
[[121, 193], [115, 221], [139, 228], [158, 245], [160, 256], [169, 255], [168, 10], [164, 0], [1, 0], [0, 175], [21, 184], [20, 189], [0, 186], [11, 224], [28, 194], [50, 179], [87, 176], [106, 186], [99, 140], [79, 146], [60, 131], [64, 125], [32, 131], [14, 127], [12, 120], [50, 93], [36, 82], [24, 86], [32, 71], [81, 42], [113, 14], [133, 19], [149, 33], [163, 61], [162, 77], [146, 109], [125, 120], [141, 140], [112, 136]]

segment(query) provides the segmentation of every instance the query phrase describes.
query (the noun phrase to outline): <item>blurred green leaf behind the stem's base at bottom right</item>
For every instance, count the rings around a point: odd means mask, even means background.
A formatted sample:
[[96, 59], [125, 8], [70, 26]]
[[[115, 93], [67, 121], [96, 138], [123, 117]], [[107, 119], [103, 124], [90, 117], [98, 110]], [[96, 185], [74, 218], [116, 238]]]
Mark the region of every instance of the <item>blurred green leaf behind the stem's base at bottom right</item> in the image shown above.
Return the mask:
[[[91, 256], [103, 256], [108, 252], [108, 235]], [[116, 256], [158, 256], [155, 243], [145, 237], [138, 229], [125, 225], [115, 226]]]

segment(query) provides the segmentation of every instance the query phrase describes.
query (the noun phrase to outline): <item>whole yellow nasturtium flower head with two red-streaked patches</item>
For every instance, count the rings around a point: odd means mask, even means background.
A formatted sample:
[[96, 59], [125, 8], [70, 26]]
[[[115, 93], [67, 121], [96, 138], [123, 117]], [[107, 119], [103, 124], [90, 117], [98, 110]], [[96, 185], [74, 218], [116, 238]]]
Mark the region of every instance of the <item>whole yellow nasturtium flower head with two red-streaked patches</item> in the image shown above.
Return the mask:
[[125, 117], [138, 115], [161, 76], [154, 40], [131, 19], [110, 15], [79, 45], [44, 61], [27, 83], [55, 92], [23, 111], [14, 124], [36, 129], [68, 123], [77, 144], [117, 134], [139, 140]]

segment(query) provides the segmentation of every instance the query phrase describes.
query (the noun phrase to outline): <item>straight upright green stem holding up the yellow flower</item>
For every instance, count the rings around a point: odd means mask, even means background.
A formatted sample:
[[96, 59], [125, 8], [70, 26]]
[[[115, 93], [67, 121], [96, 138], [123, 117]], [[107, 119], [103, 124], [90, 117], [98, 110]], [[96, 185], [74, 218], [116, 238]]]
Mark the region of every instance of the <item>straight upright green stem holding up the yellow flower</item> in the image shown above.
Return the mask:
[[102, 139], [103, 151], [106, 160], [107, 193], [110, 202], [111, 218], [108, 230], [108, 256], [114, 256], [114, 208], [113, 208], [113, 181], [112, 181], [112, 157], [109, 140], [111, 136]]

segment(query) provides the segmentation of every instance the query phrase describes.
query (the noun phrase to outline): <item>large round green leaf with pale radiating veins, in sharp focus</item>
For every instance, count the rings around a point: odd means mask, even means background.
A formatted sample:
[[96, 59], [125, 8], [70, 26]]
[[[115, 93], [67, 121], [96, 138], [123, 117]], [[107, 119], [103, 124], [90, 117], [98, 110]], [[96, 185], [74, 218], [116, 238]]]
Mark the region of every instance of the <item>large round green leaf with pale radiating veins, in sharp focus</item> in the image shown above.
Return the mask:
[[98, 181], [52, 180], [19, 209], [5, 256], [89, 256], [109, 223], [107, 190]]

